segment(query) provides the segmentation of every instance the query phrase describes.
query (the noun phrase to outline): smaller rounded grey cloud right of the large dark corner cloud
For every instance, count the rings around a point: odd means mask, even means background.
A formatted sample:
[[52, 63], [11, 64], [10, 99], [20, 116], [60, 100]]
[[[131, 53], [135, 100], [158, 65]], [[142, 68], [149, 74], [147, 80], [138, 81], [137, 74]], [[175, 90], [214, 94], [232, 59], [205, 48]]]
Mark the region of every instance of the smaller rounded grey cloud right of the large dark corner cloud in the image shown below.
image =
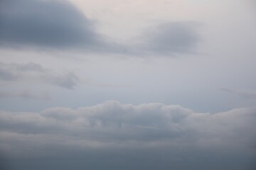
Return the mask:
[[199, 41], [196, 25], [192, 22], [161, 23], [134, 40], [139, 42], [134, 48], [146, 54], [193, 53]]

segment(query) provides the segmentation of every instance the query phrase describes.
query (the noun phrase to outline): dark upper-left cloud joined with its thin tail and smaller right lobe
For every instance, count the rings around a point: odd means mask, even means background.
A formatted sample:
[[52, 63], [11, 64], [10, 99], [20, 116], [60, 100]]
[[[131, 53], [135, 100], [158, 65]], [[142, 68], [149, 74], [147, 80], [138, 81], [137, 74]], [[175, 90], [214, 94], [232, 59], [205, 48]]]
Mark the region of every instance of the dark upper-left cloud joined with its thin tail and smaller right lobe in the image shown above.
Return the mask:
[[0, 23], [1, 47], [174, 55], [194, 52], [198, 42], [193, 24], [186, 22], [160, 24], [126, 45], [114, 42], [97, 33], [95, 23], [68, 1], [4, 0], [1, 2]]

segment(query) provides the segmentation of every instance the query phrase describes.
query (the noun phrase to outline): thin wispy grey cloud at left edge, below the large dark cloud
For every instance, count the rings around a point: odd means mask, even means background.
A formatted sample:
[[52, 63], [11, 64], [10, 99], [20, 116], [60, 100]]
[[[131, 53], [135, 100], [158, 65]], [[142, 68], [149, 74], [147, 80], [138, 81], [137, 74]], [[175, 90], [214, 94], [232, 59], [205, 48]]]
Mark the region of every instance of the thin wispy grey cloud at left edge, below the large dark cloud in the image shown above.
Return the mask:
[[78, 77], [73, 72], [56, 74], [34, 62], [25, 64], [0, 62], [0, 81], [15, 83], [23, 79], [38, 79], [38, 81], [61, 86], [65, 89], [74, 89], [79, 83]]

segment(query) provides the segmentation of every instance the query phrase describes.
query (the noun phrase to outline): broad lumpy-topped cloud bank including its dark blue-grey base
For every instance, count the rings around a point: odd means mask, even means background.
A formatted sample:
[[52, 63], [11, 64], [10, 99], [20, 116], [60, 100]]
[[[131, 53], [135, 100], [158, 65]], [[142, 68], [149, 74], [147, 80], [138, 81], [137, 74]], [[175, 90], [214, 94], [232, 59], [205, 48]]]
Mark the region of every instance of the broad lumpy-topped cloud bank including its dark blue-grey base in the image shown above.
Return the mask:
[[117, 101], [41, 113], [1, 111], [1, 157], [73, 157], [95, 169], [252, 169], [255, 113]]

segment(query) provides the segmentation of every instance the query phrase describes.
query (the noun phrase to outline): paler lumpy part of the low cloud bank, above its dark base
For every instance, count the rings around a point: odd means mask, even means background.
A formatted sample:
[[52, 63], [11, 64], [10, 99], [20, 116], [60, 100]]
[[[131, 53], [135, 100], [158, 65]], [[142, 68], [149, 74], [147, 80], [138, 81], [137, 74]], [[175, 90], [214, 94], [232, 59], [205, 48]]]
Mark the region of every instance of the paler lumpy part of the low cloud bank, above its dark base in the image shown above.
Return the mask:
[[[255, 108], [223, 113], [194, 113], [181, 106], [145, 103], [139, 106], [107, 101], [41, 113], [1, 111], [1, 149], [14, 144], [39, 148], [60, 145], [84, 148], [206, 147], [255, 149]], [[6, 147], [8, 146], [8, 147]], [[33, 151], [33, 149], [31, 150]]]

